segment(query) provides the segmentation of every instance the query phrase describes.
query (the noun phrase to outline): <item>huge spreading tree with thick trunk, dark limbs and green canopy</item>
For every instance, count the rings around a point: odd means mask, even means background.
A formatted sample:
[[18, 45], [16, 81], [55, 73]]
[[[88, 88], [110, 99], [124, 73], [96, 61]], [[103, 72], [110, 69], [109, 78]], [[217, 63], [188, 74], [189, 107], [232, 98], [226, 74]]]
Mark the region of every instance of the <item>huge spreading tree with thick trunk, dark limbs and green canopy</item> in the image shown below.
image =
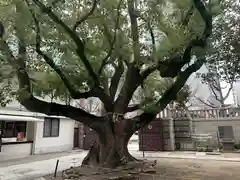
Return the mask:
[[[127, 149], [130, 137], [176, 100], [206, 61], [215, 5], [202, 0], [5, 0], [1, 57], [17, 75], [23, 106], [92, 128], [99, 141], [83, 164], [112, 167], [135, 160]], [[72, 99], [98, 98], [105, 113], [43, 101], [36, 96], [42, 87], [36, 72], [57, 75], [53, 79], [59, 83], [45, 92], [60, 92], [58, 86]], [[141, 92], [154, 98], [146, 95], [130, 106]], [[140, 115], [125, 118], [138, 109]]]

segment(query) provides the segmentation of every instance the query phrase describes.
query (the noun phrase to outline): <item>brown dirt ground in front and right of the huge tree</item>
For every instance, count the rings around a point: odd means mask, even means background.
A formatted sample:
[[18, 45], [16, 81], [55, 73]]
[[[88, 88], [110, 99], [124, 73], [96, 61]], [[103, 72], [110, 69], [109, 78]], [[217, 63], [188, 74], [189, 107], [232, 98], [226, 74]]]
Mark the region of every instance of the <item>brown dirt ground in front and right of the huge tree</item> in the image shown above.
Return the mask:
[[[76, 180], [238, 180], [240, 176], [240, 162], [200, 160], [200, 159], [174, 159], [174, 158], [147, 158], [157, 160], [156, 173], [139, 172], [135, 170], [119, 170], [114, 172], [99, 172], [83, 168], [71, 169], [71, 179]], [[75, 173], [76, 172], [76, 173]], [[59, 173], [56, 180], [64, 180]], [[84, 174], [84, 175], [83, 175]], [[52, 176], [46, 176], [52, 180]]]

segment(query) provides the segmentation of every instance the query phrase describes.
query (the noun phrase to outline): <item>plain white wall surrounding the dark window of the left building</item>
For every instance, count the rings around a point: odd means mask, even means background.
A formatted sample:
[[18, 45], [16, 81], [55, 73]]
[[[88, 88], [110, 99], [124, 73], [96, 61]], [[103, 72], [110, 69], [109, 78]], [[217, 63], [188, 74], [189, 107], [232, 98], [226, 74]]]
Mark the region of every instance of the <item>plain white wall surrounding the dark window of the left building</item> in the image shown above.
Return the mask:
[[74, 136], [74, 121], [60, 119], [59, 137], [43, 137], [44, 122], [36, 123], [34, 154], [62, 152], [72, 150]]

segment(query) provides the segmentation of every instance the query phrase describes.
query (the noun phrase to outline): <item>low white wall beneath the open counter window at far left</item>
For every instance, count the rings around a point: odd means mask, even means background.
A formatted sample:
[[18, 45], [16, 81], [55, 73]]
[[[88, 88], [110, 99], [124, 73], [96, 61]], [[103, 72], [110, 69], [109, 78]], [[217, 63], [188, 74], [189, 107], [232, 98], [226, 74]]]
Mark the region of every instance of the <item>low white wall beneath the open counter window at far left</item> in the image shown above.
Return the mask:
[[2, 145], [0, 160], [22, 158], [31, 155], [32, 143]]

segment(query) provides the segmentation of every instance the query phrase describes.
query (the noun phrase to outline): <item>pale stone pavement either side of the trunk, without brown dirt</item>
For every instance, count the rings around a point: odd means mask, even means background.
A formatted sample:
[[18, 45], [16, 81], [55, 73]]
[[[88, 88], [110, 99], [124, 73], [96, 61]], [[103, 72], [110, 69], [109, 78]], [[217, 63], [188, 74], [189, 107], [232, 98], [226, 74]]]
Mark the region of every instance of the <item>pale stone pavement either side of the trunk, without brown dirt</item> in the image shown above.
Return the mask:
[[[137, 150], [130, 150], [130, 153], [142, 158], [143, 153]], [[68, 169], [71, 166], [79, 166], [87, 154], [87, 151], [72, 151], [65, 155], [41, 155], [39, 157], [19, 159], [15, 164], [10, 162], [0, 162], [0, 180], [42, 180], [41, 176], [54, 172], [57, 159], [59, 159], [58, 171]], [[42, 157], [42, 159], [41, 159]], [[239, 153], [226, 153], [218, 155], [206, 155], [196, 152], [145, 152], [144, 158], [181, 158], [215, 161], [234, 161], [240, 162]], [[26, 160], [28, 159], [28, 160]]]

